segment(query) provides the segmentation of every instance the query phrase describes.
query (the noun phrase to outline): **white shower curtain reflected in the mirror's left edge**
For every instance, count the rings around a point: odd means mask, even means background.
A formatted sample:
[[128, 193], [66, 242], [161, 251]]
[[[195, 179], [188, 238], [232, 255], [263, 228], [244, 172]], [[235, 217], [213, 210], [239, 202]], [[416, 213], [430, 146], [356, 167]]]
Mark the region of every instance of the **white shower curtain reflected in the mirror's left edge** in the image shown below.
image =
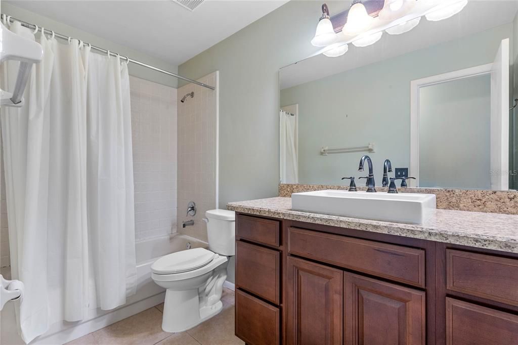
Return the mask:
[[282, 183], [298, 183], [298, 128], [296, 117], [284, 110], [280, 118], [280, 173]]

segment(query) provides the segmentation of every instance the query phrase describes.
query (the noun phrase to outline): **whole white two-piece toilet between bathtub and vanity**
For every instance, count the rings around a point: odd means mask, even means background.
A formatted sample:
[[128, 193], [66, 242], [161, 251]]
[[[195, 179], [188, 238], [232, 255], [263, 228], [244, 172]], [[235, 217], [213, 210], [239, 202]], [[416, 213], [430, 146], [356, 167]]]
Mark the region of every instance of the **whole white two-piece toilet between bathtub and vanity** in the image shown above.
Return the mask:
[[151, 278], [166, 289], [162, 329], [177, 333], [221, 311], [228, 256], [235, 255], [234, 211], [205, 213], [209, 249], [192, 248], [162, 256], [151, 265]]

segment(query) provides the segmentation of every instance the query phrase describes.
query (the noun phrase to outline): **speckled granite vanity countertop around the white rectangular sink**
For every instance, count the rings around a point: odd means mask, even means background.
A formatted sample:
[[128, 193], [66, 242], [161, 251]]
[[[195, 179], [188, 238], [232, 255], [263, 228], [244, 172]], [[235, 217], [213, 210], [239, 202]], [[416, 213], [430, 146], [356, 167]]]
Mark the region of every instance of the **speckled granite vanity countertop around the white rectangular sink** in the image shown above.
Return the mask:
[[229, 210], [265, 217], [518, 253], [518, 215], [437, 209], [417, 225], [293, 211], [291, 206], [289, 197], [227, 204]]

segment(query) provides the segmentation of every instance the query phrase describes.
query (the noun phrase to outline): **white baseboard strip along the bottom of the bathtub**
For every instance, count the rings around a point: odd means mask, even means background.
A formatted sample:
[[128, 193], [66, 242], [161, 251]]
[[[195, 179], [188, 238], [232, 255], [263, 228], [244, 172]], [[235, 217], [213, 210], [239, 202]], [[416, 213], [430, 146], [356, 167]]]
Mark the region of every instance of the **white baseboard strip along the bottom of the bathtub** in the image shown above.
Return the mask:
[[122, 307], [120, 309], [114, 310], [110, 313], [104, 314], [95, 319], [89, 320], [87, 322], [83, 322], [78, 324], [75, 327], [64, 329], [62, 332], [57, 332], [46, 336], [42, 339], [37, 339], [32, 342], [33, 344], [64, 344], [69, 341], [80, 338], [84, 335], [90, 334], [104, 328], [106, 326], [111, 325], [112, 323], [119, 322], [123, 319], [129, 318], [132, 315], [138, 314], [141, 311], [154, 307], [164, 301], [165, 292], [148, 297], [146, 299], [140, 300], [136, 303], [130, 304], [128, 306]]

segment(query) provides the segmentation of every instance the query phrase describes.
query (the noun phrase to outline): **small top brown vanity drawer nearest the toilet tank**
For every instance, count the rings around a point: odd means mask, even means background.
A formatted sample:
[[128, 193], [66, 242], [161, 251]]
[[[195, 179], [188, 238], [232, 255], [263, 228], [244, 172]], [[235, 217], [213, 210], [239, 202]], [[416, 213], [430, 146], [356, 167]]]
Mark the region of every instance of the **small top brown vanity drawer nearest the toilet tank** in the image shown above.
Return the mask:
[[279, 221], [238, 214], [236, 222], [237, 237], [279, 247]]

